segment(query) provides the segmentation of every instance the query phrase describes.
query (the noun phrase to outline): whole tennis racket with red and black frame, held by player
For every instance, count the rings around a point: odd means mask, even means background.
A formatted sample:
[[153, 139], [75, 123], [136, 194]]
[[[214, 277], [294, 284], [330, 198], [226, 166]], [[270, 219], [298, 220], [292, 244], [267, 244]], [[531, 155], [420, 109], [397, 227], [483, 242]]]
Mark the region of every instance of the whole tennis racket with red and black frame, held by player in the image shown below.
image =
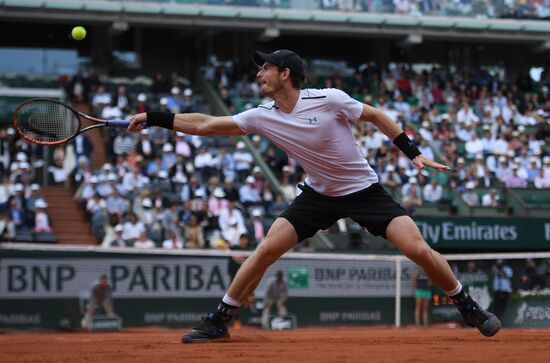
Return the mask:
[[[94, 125], [82, 128], [82, 118]], [[25, 140], [41, 145], [58, 145], [78, 134], [99, 127], [126, 128], [129, 120], [103, 120], [88, 116], [49, 98], [32, 98], [20, 104], [13, 116], [15, 129]]]

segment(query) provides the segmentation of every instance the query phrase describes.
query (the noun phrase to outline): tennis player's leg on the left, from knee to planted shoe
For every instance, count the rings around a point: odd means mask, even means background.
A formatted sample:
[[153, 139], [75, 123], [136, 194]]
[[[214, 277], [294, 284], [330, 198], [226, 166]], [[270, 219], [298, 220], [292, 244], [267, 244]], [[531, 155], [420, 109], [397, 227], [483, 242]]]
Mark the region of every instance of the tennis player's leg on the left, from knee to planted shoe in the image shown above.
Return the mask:
[[237, 271], [218, 309], [203, 318], [204, 323], [185, 334], [182, 341], [206, 342], [229, 337], [229, 322], [238, 313], [242, 302], [258, 286], [267, 268], [296, 243], [298, 235], [293, 225], [284, 218], [278, 218], [269, 229], [265, 240]]

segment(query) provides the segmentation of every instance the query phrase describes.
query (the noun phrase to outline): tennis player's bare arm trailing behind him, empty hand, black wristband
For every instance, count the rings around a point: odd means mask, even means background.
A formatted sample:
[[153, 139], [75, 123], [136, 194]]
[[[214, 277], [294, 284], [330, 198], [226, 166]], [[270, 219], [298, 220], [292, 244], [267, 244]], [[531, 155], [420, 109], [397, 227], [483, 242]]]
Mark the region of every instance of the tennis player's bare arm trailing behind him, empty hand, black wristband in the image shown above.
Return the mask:
[[[388, 115], [378, 110], [377, 108], [369, 105], [363, 105], [361, 121], [371, 122], [386, 136], [393, 140], [394, 144], [411, 159], [412, 163], [418, 169], [430, 167], [437, 170], [449, 170], [449, 167], [447, 165], [443, 165], [433, 160], [430, 160], [424, 155], [420, 154], [416, 146], [412, 146], [414, 143], [411, 143], [406, 135], [403, 136], [404, 133], [401, 127], [399, 127], [399, 125], [396, 124], [391, 118], [389, 118]], [[414, 153], [415, 149], [416, 153]]]

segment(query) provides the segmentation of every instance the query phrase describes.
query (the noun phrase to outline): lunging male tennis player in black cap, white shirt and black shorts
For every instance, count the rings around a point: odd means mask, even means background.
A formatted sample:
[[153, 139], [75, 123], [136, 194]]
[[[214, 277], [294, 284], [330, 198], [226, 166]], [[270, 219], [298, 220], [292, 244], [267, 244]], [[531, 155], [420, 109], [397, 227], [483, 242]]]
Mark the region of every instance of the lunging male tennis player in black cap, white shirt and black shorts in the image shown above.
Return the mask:
[[193, 135], [259, 134], [300, 161], [307, 178], [302, 193], [273, 223], [265, 240], [239, 269], [217, 310], [182, 337], [184, 343], [229, 337], [228, 325], [241, 303], [254, 291], [266, 269], [298, 242], [350, 217], [372, 234], [387, 238], [420, 265], [431, 281], [456, 304], [466, 324], [485, 336], [502, 327], [462, 289], [443, 257], [433, 251], [407, 212], [378, 183], [361, 155], [349, 125], [369, 121], [393, 140], [418, 168], [447, 170], [423, 155], [407, 135], [380, 110], [362, 104], [337, 89], [301, 89], [305, 80], [302, 59], [289, 50], [256, 52], [256, 77], [262, 95], [274, 101], [234, 116], [199, 113], [140, 113], [131, 131], [145, 125]]

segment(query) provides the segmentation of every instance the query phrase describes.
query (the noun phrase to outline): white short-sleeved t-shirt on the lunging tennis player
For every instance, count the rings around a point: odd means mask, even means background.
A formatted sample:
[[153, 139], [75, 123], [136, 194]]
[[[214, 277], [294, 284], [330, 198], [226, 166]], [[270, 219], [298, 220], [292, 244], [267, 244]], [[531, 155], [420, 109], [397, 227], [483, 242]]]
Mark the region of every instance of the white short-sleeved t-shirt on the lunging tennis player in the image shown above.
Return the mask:
[[363, 104], [340, 90], [304, 89], [290, 113], [270, 102], [233, 120], [244, 133], [262, 135], [299, 160], [315, 191], [343, 196], [378, 182], [349, 125], [362, 112]]

